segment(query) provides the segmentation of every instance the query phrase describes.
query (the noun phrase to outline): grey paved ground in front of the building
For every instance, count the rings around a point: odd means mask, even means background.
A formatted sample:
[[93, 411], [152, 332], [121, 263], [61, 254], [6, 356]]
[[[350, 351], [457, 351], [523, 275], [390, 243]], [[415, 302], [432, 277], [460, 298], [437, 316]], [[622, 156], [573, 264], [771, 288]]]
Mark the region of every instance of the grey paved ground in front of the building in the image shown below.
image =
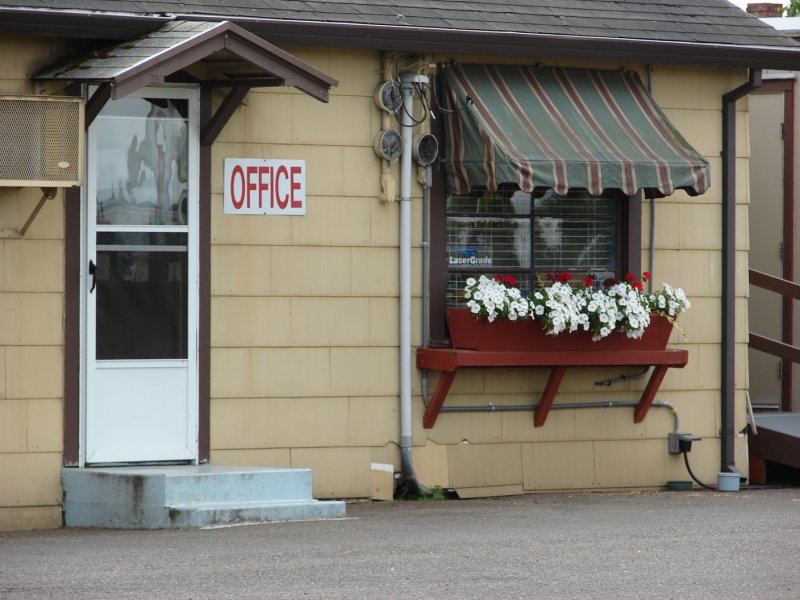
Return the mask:
[[337, 521], [0, 534], [0, 598], [800, 598], [800, 489], [360, 503]]

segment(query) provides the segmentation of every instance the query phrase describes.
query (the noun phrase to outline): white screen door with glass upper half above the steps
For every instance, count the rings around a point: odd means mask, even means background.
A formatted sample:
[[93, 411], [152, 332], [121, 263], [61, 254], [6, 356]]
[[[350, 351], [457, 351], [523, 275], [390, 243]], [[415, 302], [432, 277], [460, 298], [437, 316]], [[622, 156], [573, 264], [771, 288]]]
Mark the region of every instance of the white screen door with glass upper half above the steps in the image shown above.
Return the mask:
[[197, 117], [148, 88], [89, 129], [87, 464], [197, 460]]

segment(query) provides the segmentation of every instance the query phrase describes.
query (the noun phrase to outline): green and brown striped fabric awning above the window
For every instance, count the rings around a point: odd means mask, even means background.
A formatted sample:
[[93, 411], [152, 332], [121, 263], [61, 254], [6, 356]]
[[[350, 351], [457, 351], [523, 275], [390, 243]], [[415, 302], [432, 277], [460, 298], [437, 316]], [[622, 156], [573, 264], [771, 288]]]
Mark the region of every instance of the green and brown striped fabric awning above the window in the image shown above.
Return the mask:
[[706, 161], [681, 136], [636, 73], [455, 65], [444, 72], [450, 188], [530, 192], [619, 189], [691, 195], [709, 186]]

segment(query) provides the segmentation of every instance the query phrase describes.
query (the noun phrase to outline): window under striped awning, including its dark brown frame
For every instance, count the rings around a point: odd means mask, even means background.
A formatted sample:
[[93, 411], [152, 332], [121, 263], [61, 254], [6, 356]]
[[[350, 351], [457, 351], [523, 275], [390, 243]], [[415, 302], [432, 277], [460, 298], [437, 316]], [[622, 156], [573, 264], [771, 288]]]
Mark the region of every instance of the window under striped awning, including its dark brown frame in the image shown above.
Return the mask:
[[[575, 279], [641, 272], [642, 200], [607, 190], [450, 191], [444, 169], [431, 190], [428, 344], [449, 347], [445, 308], [463, 304], [469, 276], [513, 274], [525, 289], [537, 274], [569, 271]], [[613, 232], [613, 235], [612, 235]]]

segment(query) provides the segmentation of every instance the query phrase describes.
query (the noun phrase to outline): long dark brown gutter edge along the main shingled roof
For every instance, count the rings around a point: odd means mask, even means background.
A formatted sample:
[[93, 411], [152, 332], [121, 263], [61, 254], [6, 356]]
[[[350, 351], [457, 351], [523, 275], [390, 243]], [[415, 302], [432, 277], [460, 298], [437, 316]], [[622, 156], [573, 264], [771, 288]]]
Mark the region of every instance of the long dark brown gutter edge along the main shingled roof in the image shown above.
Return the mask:
[[[0, 31], [130, 39], [169, 20], [213, 19], [211, 15], [171, 17], [0, 8]], [[733, 46], [228, 16], [219, 20], [231, 21], [273, 44], [800, 70], [800, 46]]]

